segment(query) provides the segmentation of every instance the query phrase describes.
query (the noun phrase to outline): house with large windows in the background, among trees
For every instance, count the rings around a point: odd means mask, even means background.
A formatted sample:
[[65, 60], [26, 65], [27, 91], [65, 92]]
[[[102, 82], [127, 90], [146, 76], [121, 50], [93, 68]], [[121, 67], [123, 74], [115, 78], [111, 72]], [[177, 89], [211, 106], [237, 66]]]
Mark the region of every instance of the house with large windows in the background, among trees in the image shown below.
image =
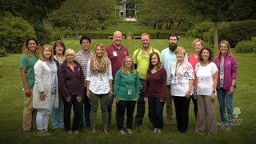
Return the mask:
[[125, 21], [136, 21], [136, 5], [129, 0], [123, 0], [118, 2], [115, 10], [120, 18], [124, 18]]

